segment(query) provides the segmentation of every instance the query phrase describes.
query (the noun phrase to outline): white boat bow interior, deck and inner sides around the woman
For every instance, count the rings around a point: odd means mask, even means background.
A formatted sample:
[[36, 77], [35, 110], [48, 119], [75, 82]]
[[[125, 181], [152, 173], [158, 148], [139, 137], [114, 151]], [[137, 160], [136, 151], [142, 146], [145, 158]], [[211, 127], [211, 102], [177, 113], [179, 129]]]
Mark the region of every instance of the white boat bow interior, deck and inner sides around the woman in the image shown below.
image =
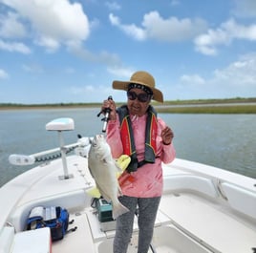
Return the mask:
[[[70, 227], [77, 226], [77, 229], [63, 240], [53, 242], [53, 253], [113, 252], [115, 231], [101, 231], [86, 193], [94, 185], [86, 169], [87, 160], [70, 157], [68, 162], [71, 179], [59, 179], [61, 162], [56, 160], [22, 175], [2, 189], [2, 196], [5, 196], [2, 201], [9, 206], [11, 214], [9, 217], [6, 214], [7, 221], [16, 232], [21, 232], [33, 206], [60, 205], [70, 211], [70, 219], [75, 220]], [[224, 200], [218, 189], [219, 179], [212, 175], [203, 177], [208, 168], [199, 167], [202, 171], [192, 174], [190, 170], [182, 170], [182, 166], [183, 161], [178, 160], [165, 171], [153, 248], [158, 253], [253, 253], [256, 247], [255, 180], [234, 178], [231, 183], [227, 180], [230, 175], [226, 175], [220, 186], [228, 197]], [[246, 215], [240, 210], [245, 210]], [[137, 253], [136, 220], [134, 228], [128, 253]], [[154, 251], [150, 249], [149, 252]]]

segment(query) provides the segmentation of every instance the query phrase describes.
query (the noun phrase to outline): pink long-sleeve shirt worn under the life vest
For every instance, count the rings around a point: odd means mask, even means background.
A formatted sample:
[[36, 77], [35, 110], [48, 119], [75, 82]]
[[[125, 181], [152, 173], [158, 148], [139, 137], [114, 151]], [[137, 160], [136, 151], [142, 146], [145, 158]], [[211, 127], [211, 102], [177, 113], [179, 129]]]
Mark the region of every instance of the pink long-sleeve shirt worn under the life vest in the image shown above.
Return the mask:
[[[134, 132], [137, 158], [140, 161], [144, 159], [147, 116], [130, 115], [130, 117]], [[162, 143], [160, 133], [165, 126], [165, 122], [161, 118], [158, 118], [156, 154], [156, 157], [158, 158], [156, 158], [155, 163], [146, 163], [139, 167], [136, 172], [132, 172], [130, 174], [125, 171], [118, 179], [123, 195], [136, 198], [153, 198], [161, 196], [163, 186], [161, 161], [163, 163], [169, 163], [173, 161], [176, 156], [176, 152], [172, 144], [164, 145]], [[123, 155], [118, 115], [116, 120], [110, 120], [107, 125], [107, 142], [111, 147], [113, 158], [119, 158]]]

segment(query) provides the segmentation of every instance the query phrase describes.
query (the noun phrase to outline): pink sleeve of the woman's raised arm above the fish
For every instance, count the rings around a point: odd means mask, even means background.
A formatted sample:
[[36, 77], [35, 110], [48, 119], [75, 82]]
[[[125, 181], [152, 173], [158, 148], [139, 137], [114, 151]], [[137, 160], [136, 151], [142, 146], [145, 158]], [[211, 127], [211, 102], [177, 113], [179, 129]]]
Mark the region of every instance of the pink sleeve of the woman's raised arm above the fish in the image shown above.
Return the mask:
[[123, 154], [122, 142], [120, 137], [120, 123], [117, 116], [116, 120], [110, 120], [107, 125], [107, 142], [110, 145], [113, 158], [119, 158]]

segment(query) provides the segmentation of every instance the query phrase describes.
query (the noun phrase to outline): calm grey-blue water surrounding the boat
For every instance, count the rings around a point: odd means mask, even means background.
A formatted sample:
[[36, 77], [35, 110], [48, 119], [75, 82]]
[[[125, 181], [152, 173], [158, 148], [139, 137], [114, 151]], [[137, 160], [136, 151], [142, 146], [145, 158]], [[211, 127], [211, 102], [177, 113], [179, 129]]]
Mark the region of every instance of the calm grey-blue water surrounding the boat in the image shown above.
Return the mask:
[[[0, 186], [32, 166], [14, 166], [11, 154], [30, 155], [58, 146], [55, 132], [45, 125], [57, 117], [72, 117], [75, 131], [64, 133], [66, 144], [77, 134], [101, 133], [99, 109], [40, 109], [0, 111]], [[255, 115], [160, 114], [172, 127], [178, 158], [190, 159], [256, 179]]]

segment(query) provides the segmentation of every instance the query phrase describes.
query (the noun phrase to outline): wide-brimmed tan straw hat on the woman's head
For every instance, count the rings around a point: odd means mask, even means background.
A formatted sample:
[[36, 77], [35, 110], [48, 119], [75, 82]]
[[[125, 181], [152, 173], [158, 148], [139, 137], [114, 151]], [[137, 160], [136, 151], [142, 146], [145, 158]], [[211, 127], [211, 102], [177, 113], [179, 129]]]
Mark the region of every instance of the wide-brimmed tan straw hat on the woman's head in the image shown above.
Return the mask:
[[113, 89], [116, 90], [124, 90], [124, 91], [128, 91], [128, 87], [130, 83], [138, 83], [138, 84], [142, 84], [148, 88], [150, 88], [150, 90], [153, 92], [153, 96], [152, 99], [158, 101], [158, 102], [163, 102], [163, 95], [160, 92], [160, 90], [158, 90], [157, 88], [155, 88], [155, 79], [154, 77], [147, 73], [147, 72], [136, 72], [135, 74], [133, 74], [130, 78], [130, 81], [113, 81], [112, 87]]

